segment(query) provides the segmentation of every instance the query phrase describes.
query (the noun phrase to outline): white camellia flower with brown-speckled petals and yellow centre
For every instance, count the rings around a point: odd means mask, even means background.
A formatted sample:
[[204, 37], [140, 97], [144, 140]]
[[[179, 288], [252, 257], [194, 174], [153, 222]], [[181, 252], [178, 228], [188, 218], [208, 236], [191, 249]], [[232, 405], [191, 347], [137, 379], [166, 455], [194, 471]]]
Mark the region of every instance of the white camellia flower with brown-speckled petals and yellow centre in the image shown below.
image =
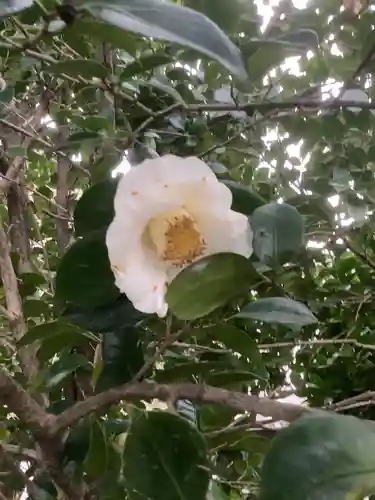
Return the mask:
[[231, 204], [229, 188], [194, 157], [145, 160], [120, 179], [106, 244], [116, 285], [136, 309], [165, 316], [168, 283], [201, 257], [251, 255], [248, 219]]

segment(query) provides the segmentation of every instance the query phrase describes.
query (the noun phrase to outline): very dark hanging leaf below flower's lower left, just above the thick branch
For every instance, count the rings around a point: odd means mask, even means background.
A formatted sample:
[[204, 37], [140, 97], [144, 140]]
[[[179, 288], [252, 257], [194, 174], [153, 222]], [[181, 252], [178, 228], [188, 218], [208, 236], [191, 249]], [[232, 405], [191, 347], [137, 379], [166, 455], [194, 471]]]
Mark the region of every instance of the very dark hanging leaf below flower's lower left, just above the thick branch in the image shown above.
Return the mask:
[[145, 362], [139, 331], [123, 327], [105, 333], [102, 360], [102, 370], [96, 384], [97, 392], [129, 382]]

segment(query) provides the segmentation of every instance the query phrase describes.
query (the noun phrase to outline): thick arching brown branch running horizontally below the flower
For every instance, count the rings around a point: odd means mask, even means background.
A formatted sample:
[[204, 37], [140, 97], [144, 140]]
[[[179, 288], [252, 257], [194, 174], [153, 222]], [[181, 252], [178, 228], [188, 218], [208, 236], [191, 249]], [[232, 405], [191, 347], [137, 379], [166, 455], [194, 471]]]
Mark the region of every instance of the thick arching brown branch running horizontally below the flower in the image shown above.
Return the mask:
[[259, 398], [258, 396], [232, 392], [218, 387], [200, 384], [163, 385], [153, 382], [141, 382], [125, 384], [76, 403], [57, 417], [57, 420], [52, 425], [51, 432], [52, 434], [60, 433], [89, 413], [119, 401], [139, 401], [142, 399], [160, 399], [161, 401], [189, 399], [196, 403], [228, 406], [238, 412], [255, 412], [259, 415], [287, 422], [291, 422], [304, 413], [312, 411], [304, 406]]

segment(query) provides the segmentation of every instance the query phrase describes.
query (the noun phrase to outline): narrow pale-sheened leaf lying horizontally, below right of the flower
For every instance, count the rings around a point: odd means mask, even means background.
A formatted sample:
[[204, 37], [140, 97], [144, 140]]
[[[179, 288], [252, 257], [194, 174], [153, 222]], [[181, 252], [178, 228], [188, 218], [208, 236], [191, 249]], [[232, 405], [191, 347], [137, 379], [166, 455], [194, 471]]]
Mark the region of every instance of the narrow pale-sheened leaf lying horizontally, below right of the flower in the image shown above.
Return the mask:
[[302, 302], [286, 297], [267, 297], [247, 304], [237, 318], [255, 319], [265, 323], [303, 327], [318, 322], [308, 307]]

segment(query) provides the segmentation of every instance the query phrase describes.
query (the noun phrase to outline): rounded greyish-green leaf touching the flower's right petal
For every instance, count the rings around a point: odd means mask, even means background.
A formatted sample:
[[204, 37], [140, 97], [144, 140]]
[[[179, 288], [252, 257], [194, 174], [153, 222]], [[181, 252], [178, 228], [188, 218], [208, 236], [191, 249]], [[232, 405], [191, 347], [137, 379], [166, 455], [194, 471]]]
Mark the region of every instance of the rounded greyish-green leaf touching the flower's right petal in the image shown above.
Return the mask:
[[304, 243], [304, 224], [298, 210], [287, 203], [270, 203], [251, 216], [255, 255], [265, 264], [283, 264]]

